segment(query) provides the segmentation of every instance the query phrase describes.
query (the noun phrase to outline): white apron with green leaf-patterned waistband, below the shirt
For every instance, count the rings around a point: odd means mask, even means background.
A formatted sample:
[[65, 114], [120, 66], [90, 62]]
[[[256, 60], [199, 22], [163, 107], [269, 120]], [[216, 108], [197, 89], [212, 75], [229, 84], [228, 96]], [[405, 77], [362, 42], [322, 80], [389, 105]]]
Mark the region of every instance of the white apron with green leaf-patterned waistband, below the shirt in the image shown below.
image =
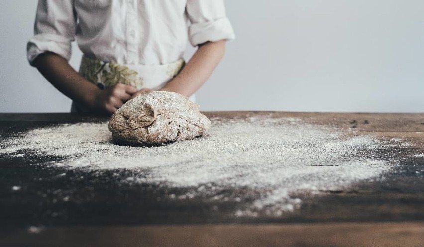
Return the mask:
[[[117, 83], [131, 85], [138, 90], [142, 88], [158, 90], [177, 76], [184, 65], [184, 59], [169, 64], [141, 65], [103, 62], [83, 56], [79, 74], [102, 90]], [[189, 99], [195, 102], [195, 95]], [[90, 112], [90, 109], [72, 102], [71, 112]]]

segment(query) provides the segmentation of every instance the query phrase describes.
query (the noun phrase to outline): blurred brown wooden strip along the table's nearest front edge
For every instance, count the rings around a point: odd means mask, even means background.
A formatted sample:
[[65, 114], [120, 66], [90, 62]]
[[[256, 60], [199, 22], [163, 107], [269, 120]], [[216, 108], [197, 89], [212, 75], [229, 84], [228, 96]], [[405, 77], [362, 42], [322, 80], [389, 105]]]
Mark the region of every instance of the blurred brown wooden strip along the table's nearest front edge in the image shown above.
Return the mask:
[[423, 247], [424, 223], [57, 227], [0, 241], [10, 247]]

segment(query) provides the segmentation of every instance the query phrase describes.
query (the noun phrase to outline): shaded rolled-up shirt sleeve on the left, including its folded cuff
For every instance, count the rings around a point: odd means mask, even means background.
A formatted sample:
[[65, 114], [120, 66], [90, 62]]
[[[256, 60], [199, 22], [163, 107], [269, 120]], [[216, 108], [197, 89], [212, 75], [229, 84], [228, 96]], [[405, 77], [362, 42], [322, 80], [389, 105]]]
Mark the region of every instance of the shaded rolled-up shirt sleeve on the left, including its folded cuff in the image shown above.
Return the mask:
[[54, 52], [69, 61], [76, 19], [74, 0], [39, 0], [34, 36], [26, 48], [29, 63], [33, 65], [35, 58], [44, 52]]

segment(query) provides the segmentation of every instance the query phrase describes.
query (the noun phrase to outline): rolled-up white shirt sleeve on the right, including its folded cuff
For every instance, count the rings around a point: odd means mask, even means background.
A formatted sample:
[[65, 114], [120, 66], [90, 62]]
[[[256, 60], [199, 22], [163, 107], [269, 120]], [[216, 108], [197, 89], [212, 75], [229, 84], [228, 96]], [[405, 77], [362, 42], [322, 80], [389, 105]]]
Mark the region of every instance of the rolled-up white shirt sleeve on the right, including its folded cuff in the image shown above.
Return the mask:
[[235, 38], [223, 0], [187, 0], [189, 40], [193, 46]]

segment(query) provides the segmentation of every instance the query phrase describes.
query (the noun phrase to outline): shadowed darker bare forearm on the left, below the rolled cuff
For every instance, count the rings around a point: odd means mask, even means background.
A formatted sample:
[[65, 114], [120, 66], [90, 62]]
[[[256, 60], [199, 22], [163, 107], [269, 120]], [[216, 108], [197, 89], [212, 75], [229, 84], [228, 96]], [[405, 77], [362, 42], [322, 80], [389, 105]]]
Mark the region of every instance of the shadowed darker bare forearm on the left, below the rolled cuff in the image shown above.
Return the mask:
[[55, 53], [41, 54], [35, 59], [34, 66], [60, 92], [81, 104], [89, 104], [100, 90]]

